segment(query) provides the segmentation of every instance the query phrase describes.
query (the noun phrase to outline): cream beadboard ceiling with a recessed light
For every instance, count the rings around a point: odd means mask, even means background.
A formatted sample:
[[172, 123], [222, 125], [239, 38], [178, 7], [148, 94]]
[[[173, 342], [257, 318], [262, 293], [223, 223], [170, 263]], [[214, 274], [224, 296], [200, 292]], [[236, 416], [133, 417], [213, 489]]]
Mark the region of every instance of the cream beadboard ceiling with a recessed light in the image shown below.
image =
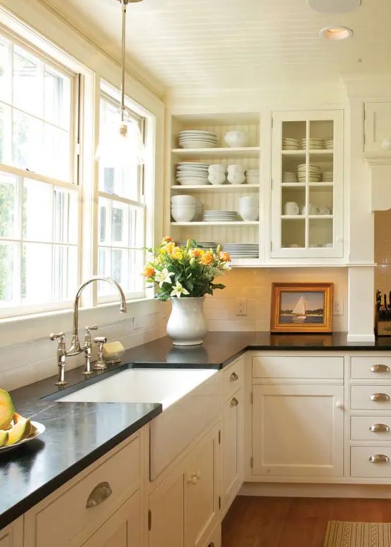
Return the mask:
[[[119, 55], [119, 2], [44, 1]], [[354, 37], [322, 39], [328, 25], [347, 25]], [[340, 14], [314, 11], [307, 0], [144, 0], [128, 6], [127, 54], [167, 92], [335, 82], [389, 73], [390, 27], [390, 0], [362, 0]]]

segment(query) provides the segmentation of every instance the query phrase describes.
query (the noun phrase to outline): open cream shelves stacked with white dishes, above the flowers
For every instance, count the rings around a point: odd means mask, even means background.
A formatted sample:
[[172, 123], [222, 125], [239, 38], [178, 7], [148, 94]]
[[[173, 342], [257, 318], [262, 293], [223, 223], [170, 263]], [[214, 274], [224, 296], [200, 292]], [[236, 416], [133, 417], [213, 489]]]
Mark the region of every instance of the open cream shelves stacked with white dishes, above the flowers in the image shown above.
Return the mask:
[[[170, 125], [169, 201], [192, 196], [196, 212], [191, 217], [178, 201], [172, 211], [169, 203], [169, 234], [180, 244], [226, 244], [233, 264], [259, 263], [259, 113], [176, 115]], [[227, 142], [229, 132], [241, 132], [243, 140]], [[208, 180], [210, 165], [222, 166], [214, 182]], [[253, 206], [243, 209], [245, 196]]]

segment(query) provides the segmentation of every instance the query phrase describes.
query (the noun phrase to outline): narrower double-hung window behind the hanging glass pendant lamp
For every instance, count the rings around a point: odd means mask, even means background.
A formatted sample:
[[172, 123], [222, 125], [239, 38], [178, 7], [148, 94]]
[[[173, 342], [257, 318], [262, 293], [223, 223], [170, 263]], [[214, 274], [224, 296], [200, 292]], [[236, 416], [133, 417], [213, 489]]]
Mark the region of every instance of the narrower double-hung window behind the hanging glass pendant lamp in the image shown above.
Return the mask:
[[[101, 92], [100, 134], [118, 130], [120, 104]], [[139, 125], [143, 134], [143, 118], [130, 108], [127, 115]], [[124, 162], [126, 163], [126, 162]], [[146, 206], [143, 191], [143, 170], [136, 163], [110, 165], [103, 158], [99, 165], [98, 183], [98, 274], [113, 277], [129, 298], [144, 296], [141, 277], [145, 258]], [[113, 287], [99, 284], [98, 301], [112, 300]]]

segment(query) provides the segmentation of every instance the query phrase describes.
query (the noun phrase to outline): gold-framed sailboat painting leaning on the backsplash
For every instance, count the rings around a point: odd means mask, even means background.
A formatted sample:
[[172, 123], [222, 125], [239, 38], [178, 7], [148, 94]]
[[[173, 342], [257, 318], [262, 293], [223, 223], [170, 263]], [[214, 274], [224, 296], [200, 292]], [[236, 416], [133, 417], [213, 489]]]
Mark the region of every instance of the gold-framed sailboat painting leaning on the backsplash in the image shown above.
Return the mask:
[[273, 283], [270, 332], [333, 332], [333, 283]]

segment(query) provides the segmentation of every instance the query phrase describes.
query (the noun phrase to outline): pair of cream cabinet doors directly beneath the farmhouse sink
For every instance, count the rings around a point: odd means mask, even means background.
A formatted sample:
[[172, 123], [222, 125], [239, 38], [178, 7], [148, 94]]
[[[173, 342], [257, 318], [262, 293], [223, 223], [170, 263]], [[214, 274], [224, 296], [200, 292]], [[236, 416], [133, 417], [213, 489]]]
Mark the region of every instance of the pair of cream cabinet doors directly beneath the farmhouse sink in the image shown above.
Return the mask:
[[219, 426], [149, 496], [149, 547], [204, 547], [219, 520]]

